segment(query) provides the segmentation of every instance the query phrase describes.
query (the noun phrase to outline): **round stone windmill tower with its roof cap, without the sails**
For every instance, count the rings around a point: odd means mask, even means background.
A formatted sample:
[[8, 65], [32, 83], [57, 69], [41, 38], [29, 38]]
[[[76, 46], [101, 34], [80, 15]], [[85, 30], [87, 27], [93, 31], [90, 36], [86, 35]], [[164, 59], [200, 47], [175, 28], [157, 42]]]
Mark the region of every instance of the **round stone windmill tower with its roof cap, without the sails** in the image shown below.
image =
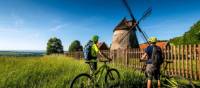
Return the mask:
[[[131, 30], [131, 27], [132, 21], [128, 21], [126, 18], [123, 18], [122, 21], [114, 28], [112, 45], [110, 48], [111, 50], [139, 47], [136, 30]], [[124, 34], [127, 35], [124, 37]], [[124, 39], [120, 41], [123, 37]]]

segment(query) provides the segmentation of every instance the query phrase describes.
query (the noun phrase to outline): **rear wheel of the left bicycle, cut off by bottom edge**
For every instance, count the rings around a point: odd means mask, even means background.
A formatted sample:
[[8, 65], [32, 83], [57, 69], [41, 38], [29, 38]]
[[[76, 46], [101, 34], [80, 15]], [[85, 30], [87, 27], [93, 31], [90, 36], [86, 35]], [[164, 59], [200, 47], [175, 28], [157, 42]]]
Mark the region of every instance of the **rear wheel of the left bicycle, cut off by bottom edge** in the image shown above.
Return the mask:
[[94, 81], [89, 74], [83, 73], [74, 78], [70, 84], [70, 88], [93, 88]]

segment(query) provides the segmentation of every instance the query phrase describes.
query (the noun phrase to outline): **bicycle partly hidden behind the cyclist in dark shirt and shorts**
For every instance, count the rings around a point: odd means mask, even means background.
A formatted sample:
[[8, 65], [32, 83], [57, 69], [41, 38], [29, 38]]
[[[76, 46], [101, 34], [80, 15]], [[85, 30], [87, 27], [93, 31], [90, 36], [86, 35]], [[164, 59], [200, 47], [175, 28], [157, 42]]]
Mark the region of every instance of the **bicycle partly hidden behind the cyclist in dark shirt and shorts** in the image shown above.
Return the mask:
[[[140, 60], [140, 62], [146, 62], [146, 60]], [[160, 79], [161, 79], [161, 87], [163, 88], [187, 88], [187, 86], [185, 85], [181, 85], [176, 79], [174, 76], [170, 76], [168, 74], [165, 74], [166, 73], [166, 70], [167, 70], [167, 66], [168, 64], [170, 63], [173, 63], [173, 61], [170, 61], [170, 60], [167, 60], [167, 61], [164, 61], [164, 68], [161, 69], [161, 73], [160, 73]], [[146, 66], [144, 65], [143, 68], [142, 68], [142, 72], [145, 74], [145, 76], [147, 77], [146, 75], [146, 72], [145, 72], [145, 68]], [[146, 80], [145, 80], [146, 81]], [[146, 81], [147, 82], [147, 81]], [[194, 84], [192, 83], [191, 80], [189, 80], [189, 85], [190, 85], [190, 88], [195, 88], [194, 87]]]

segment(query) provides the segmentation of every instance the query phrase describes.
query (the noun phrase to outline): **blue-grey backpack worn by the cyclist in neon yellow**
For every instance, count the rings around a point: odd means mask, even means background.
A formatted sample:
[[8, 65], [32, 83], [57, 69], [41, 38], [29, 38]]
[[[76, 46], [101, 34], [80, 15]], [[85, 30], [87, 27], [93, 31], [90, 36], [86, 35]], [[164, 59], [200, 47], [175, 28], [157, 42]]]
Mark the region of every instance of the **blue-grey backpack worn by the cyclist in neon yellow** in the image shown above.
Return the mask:
[[91, 54], [92, 45], [93, 45], [93, 42], [89, 40], [89, 42], [83, 48], [83, 54], [84, 54], [85, 60], [90, 60], [92, 58], [92, 54]]

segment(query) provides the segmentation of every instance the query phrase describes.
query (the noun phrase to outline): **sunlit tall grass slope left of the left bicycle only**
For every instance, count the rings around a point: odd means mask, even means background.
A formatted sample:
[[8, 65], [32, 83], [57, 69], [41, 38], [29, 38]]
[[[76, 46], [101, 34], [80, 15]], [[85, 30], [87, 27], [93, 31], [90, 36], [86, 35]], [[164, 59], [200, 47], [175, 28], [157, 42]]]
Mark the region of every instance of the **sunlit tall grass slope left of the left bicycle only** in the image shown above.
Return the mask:
[[62, 56], [1, 58], [0, 87], [62, 87], [64, 80], [69, 83], [86, 67], [83, 62]]

